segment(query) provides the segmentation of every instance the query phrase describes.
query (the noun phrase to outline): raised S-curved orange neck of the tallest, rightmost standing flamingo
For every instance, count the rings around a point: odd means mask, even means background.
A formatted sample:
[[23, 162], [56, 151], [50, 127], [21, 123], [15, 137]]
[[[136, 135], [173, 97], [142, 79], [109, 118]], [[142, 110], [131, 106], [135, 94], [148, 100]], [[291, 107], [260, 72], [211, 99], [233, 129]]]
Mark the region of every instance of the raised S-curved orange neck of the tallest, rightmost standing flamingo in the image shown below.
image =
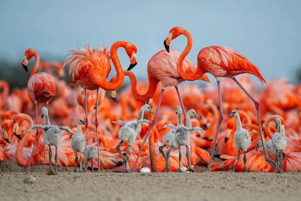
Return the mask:
[[190, 80], [190, 81], [197, 80], [206, 72], [204, 71], [203, 66], [199, 65], [199, 62], [197, 63], [197, 70], [195, 71], [195, 73], [188, 74], [183, 70], [183, 61], [184, 61], [186, 55], [188, 55], [188, 53], [190, 52], [191, 47], [192, 47], [192, 36], [185, 29], [180, 30], [180, 34], [183, 34], [187, 37], [187, 45], [186, 45], [184, 51], [182, 52], [182, 54], [178, 58], [178, 62], [177, 62], [178, 74], [180, 74], [180, 76], [184, 80]]

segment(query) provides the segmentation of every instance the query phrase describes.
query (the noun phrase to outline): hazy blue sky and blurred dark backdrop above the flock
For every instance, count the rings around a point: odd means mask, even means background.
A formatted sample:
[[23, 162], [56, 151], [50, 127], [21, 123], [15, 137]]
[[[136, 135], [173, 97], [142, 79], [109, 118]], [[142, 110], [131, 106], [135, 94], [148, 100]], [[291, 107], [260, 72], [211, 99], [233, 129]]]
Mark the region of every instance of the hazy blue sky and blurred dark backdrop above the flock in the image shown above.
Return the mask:
[[[266, 80], [287, 77], [299, 81], [301, 66], [301, 1], [4, 1], [0, 2], [0, 79], [26, 86], [30, 73], [21, 65], [24, 52], [34, 48], [41, 60], [64, 61], [76, 42], [92, 48], [124, 40], [138, 49], [137, 78], [147, 78], [147, 62], [164, 49], [174, 26], [193, 39], [188, 58], [196, 64], [206, 46], [233, 48], [255, 64]], [[171, 47], [184, 49], [185, 36]], [[118, 50], [123, 69], [129, 66]], [[30, 60], [29, 71], [34, 59]], [[115, 73], [113, 69], [110, 76]], [[69, 76], [67, 76], [69, 77]], [[213, 77], [210, 77], [213, 80]], [[129, 79], [126, 78], [126, 82]], [[213, 80], [214, 81], [214, 80]]]

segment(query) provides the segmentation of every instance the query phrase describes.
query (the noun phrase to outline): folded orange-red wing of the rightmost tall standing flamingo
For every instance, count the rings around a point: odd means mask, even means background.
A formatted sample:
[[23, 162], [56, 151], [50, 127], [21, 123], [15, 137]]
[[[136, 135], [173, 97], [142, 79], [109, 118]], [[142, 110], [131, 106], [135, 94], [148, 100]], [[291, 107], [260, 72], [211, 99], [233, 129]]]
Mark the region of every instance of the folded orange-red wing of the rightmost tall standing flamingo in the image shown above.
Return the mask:
[[209, 46], [200, 50], [198, 55], [200, 61], [206, 68], [219, 71], [226, 77], [227, 74], [253, 74], [261, 81], [266, 83], [259, 69], [252, 64], [244, 55], [234, 49], [221, 46]]

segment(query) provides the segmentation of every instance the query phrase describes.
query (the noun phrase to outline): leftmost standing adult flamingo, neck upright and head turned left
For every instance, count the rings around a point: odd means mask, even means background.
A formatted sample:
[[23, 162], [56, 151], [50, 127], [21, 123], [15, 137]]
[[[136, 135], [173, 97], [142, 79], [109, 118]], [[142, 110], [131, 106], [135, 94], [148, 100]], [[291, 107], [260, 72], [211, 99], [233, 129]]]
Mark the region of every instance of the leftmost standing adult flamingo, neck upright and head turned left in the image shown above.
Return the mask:
[[[46, 103], [46, 107], [48, 102], [55, 96], [55, 80], [54, 77], [47, 74], [47, 73], [36, 73], [39, 67], [39, 55], [38, 52], [34, 49], [27, 49], [24, 54], [22, 66], [25, 69], [26, 72], [28, 72], [27, 69], [27, 63], [29, 59], [32, 57], [35, 57], [35, 64], [33, 66], [33, 71], [30, 74], [28, 83], [27, 83], [27, 91], [29, 99], [32, 100], [35, 103], [36, 106], [36, 124], [38, 124], [38, 102], [39, 103]], [[36, 140], [33, 144], [33, 151], [36, 146], [36, 141], [38, 138], [38, 129], [36, 132]], [[30, 162], [33, 157], [33, 151], [29, 159], [29, 164], [27, 171], [29, 171]], [[44, 170], [46, 172], [46, 164], [45, 164], [45, 145], [44, 145]]]

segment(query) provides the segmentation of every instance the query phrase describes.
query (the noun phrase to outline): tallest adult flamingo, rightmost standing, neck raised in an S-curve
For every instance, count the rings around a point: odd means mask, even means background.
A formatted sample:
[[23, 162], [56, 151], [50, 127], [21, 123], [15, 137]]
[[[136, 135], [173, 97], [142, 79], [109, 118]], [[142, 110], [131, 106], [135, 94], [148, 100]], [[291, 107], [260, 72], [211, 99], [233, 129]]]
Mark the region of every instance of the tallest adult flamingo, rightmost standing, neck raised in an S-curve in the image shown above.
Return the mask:
[[[169, 44], [172, 41], [172, 39], [175, 39], [179, 35], [185, 35], [187, 37], [187, 46], [185, 47], [184, 51], [180, 55], [178, 62], [177, 62], [177, 71], [180, 77], [182, 77], [184, 80], [196, 80], [200, 76], [203, 76], [205, 73], [212, 74], [217, 81], [217, 87], [219, 91], [219, 110], [220, 110], [220, 116], [219, 116], [219, 124], [216, 130], [216, 135], [211, 151], [211, 157], [209, 161], [209, 165], [207, 168], [207, 172], [210, 172], [211, 162], [213, 159], [214, 149], [216, 145], [216, 140], [219, 134], [220, 126], [222, 124], [222, 121], [224, 119], [223, 117], [223, 111], [222, 111], [222, 97], [221, 97], [221, 90], [220, 90], [220, 80], [221, 77], [229, 77], [234, 80], [235, 83], [249, 96], [249, 98], [255, 103], [255, 107], [257, 110], [257, 118], [258, 118], [258, 125], [261, 128], [261, 122], [260, 122], [260, 113], [259, 113], [259, 102], [257, 102], [245, 89], [244, 87], [235, 79], [234, 76], [243, 74], [243, 73], [249, 73], [253, 74], [261, 81], [263, 84], [266, 83], [262, 75], [259, 73], [259, 69], [252, 64], [244, 55], [240, 54], [239, 52], [235, 51], [234, 49], [228, 48], [228, 47], [221, 47], [221, 46], [209, 46], [206, 48], [203, 48], [200, 50], [198, 56], [197, 56], [197, 70], [195, 73], [187, 73], [185, 72], [185, 68], [183, 69], [183, 60], [186, 57], [186, 55], [190, 52], [192, 47], [192, 36], [191, 34], [183, 29], [182, 27], [174, 27], [169, 31], [169, 34], [166, 36], [164, 40], [164, 46], [166, 48], [166, 51], [169, 52]], [[262, 148], [264, 150], [265, 154], [265, 161], [268, 162], [270, 165], [272, 165], [274, 168], [276, 167], [276, 163], [272, 161], [267, 153], [264, 146], [264, 136], [262, 133], [262, 130], [260, 131], [260, 136], [262, 140]]]

